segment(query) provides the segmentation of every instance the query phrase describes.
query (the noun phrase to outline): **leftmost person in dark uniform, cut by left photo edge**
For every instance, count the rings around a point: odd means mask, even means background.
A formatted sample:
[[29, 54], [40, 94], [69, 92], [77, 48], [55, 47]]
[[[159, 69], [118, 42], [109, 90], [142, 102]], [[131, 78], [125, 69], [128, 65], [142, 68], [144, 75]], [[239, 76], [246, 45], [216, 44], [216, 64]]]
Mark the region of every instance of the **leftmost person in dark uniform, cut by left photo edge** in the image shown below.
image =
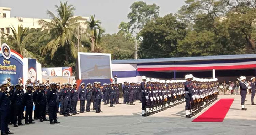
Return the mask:
[[1, 135], [14, 134], [8, 130], [9, 115], [11, 110], [11, 97], [7, 92], [7, 84], [1, 84], [0, 92], [0, 129]]

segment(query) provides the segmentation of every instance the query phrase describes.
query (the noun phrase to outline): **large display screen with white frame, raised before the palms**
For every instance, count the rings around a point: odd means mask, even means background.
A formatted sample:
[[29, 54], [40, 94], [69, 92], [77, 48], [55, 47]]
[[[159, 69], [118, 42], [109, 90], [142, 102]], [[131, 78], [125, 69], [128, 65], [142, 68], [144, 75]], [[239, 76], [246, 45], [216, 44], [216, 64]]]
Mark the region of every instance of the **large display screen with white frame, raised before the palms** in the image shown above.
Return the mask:
[[111, 54], [78, 53], [79, 79], [110, 79]]

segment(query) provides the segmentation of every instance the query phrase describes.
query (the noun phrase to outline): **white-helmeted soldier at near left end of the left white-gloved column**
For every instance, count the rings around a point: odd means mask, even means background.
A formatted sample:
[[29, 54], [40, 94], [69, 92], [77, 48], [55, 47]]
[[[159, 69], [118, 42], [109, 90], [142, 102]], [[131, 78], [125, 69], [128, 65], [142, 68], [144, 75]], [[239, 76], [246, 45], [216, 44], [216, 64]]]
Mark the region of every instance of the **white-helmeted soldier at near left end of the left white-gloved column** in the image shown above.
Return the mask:
[[145, 112], [145, 109], [146, 109], [146, 100], [149, 99], [148, 97], [148, 92], [146, 90], [146, 76], [142, 76], [142, 82], [140, 83], [140, 86], [141, 86], [141, 97], [142, 97], [142, 116], [146, 116], [146, 112]]

